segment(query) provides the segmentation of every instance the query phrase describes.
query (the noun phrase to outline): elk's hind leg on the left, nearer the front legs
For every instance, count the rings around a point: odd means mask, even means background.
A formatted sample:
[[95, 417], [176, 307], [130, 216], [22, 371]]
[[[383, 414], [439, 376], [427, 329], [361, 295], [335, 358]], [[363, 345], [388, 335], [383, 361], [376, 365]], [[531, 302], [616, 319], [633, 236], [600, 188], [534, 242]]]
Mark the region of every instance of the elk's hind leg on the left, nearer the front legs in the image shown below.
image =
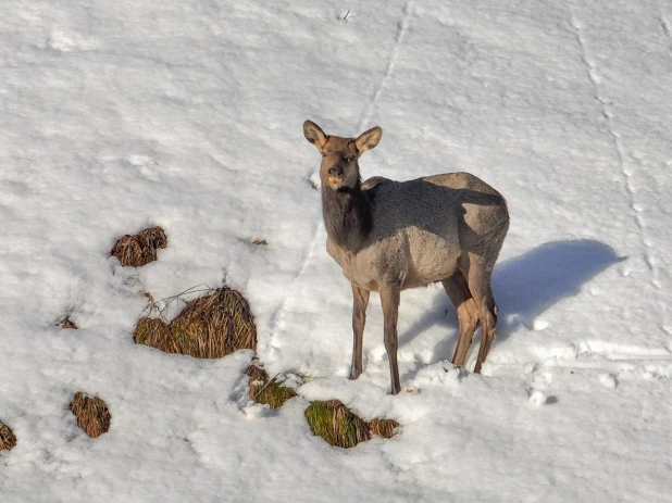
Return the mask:
[[458, 367], [463, 367], [464, 361], [466, 360], [466, 352], [474, 338], [474, 331], [478, 327], [478, 309], [469, 291], [466, 279], [464, 279], [460, 271], [457, 271], [452, 276], [444, 279], [441, 284], [450, 301], [455, 304], [460, 325], [458, 343], [455, 348], [455, 354], [452, 355], [452, 363]]

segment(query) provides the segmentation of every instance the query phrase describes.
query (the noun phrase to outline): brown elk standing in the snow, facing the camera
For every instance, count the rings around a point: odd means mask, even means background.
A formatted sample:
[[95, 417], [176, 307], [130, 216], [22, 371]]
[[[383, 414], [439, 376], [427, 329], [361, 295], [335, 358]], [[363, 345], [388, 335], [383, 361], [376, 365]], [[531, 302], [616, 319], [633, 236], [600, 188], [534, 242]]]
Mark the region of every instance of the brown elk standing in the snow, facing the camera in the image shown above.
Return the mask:
[[509, 228], [503, 197], [469, 173], [447, 173], [394, 181], [373, 177], [362, 183], [359, 156], [378, 144], [374, 127], [358, 138], [325, 135], [315, 123], [303, 124], [306, 139], [322, 154], [322, 213], [327, 253], [352, 286], [352, 366], [362, 373], [362, 341], [372, 291], [381, 295], [385, 350], [391, 393], [401, 390], [397, 366], [397, 319], [400, 292], [440, 281], [458, 314], [458, 342], [452, 363], [464, 365], [474, 331], [481, 347], [480, 373], [495, 340], [497, 304], [490, 277]]

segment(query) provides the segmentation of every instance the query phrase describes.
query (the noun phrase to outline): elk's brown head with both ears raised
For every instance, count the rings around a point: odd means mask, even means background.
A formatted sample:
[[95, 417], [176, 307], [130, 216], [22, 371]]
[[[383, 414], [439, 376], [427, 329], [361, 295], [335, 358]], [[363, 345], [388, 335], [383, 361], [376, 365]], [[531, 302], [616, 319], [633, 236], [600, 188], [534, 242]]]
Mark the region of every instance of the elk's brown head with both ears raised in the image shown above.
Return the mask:
[[322, 154], [320, 178], [323, 188], [347, 190], [353, 188], [359, 177], [359, 156], [373, 149], [383, 135], [383, 129], [374, 127], [362, 133], [358, 138], [327, 136], [315, 123], [303, 123], [306, 139], [314, 144]]

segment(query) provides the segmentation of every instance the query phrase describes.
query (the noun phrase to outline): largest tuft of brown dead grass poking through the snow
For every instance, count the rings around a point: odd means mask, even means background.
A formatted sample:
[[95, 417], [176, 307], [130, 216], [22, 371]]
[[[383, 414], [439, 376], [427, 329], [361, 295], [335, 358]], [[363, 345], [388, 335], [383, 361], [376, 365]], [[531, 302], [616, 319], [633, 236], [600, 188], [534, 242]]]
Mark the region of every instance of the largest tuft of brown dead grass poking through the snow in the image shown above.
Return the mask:
[[250, 306], [240, 292], [228, 287], [209, 290], [187, 302], [167, 324], [162, 318], [142, 316], [133, 340], [166, 353], [197, 359], [221, 359], [239, 349], [257, 349], [257, 326]]

